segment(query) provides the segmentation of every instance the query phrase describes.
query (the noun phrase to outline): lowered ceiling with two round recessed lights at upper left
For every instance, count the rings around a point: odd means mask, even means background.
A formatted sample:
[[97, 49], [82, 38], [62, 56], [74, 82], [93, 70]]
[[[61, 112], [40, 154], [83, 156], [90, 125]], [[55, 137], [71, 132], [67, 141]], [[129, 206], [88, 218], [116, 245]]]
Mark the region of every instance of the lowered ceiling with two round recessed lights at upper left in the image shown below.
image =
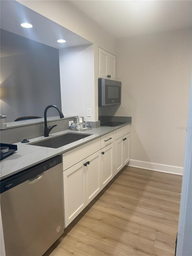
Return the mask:
[[[82, 38], [16, 1], [0, 1], [0, 5], [1, 29], [57, 49], [91, 44], [91, 42], [85, 38]], [[32, 29], [25, 29], [20, 26], [22, 22], [30, 22], [35, 24], [35, 26]], [[55, 41], [55, 39], [60, 38], [67, 39], [67, 43], [59, 44]], [[19, 48], [17, 50], [19, 50]], [[8, 51], [7, 46], [6, 56]]]

